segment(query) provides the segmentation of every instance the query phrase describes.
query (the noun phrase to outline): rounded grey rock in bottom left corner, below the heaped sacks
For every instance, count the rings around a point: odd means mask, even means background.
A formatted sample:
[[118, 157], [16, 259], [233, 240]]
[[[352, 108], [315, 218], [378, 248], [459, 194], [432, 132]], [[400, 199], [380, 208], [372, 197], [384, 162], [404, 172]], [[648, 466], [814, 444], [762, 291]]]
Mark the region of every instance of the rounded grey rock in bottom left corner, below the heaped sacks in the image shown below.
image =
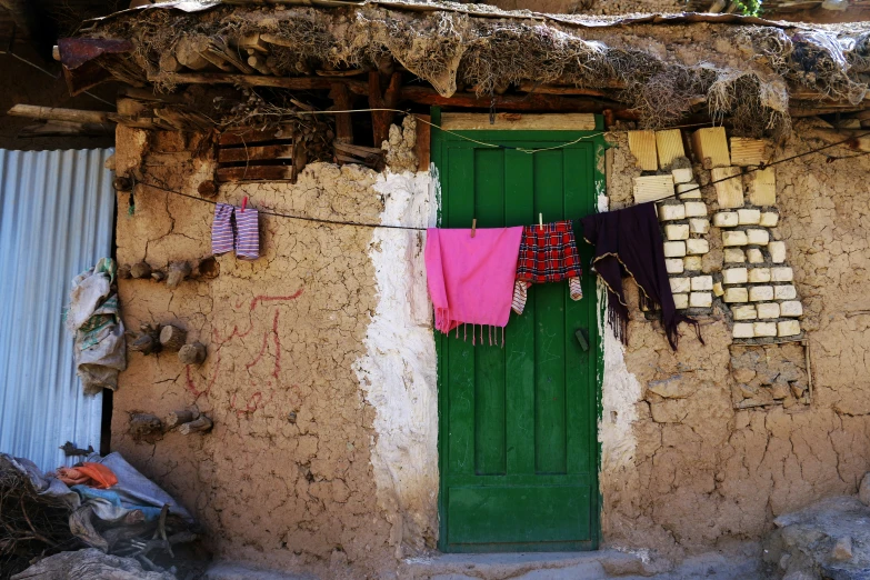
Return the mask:
[[109, 556], [94, 548], [60, 552], [34, 563], [11, 580], [177, 580], [169, 572], [148, 572], [132, 558]]

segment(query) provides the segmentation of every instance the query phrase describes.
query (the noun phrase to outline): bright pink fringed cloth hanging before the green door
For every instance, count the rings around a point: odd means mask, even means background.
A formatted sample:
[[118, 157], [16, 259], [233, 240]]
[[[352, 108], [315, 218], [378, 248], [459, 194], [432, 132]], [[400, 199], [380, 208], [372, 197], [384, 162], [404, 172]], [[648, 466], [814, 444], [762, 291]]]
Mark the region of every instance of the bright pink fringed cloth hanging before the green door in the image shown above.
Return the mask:
[[473, 238], [471, 230], [427, 230], [426, 273], [438, 330], [508, 324], [521, 238], [522, 227], [478, 228]]

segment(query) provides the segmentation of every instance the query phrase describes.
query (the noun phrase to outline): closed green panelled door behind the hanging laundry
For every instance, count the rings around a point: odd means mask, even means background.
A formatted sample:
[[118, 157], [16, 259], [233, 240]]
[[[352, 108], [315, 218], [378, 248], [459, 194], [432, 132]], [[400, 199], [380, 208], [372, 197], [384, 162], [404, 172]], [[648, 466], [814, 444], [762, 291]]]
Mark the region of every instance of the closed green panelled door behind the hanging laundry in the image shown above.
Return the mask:
[[[438, 111], [433, 121], [438, 122]], [[603, 188], [598, 137], [577, 131], [433, 131], [441, 180], [440, 226], [479, 228], [578, 219], [596, 211]], [[591, 134], [591, 133], [589, 133]], [[578, 240], [581, 258], [591, 251]], [[599, 538], [600, 351], [596, 282], [529, 289], [511, 313], [504, 348], [438, 334], [442, 551], [592, 550]], [[583, 350], [576, 332], [588, 337]], [[499, 341], [500, 342], [500, 341]]]

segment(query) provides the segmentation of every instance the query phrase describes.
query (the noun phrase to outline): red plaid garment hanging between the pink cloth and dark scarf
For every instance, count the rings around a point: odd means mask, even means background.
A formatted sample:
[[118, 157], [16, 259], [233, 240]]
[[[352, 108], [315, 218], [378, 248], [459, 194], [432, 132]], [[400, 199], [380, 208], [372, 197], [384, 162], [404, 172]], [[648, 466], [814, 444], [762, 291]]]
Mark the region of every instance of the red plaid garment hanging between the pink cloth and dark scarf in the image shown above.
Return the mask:
[[543, 229], [539, 226], [522, 228], [517, 280], [559, 282], [580, 278], [582, 273], [570, 221], [544, 223]]

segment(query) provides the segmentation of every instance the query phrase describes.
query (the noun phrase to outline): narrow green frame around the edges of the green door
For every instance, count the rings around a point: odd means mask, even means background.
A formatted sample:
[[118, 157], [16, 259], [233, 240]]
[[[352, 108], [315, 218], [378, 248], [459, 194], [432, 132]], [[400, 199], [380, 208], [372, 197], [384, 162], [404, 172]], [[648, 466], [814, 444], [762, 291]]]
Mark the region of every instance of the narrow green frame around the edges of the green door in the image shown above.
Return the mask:
[[[481, 117], [486, 116], [486, 113], [481, 113]], [[558, 117], [558, 113], [553, 113], [553, 117]], [[451, 130], [452, 134], [447, 134], [443, 131], [439, 129], [441, 126], [441, 109], [440, 107], [432, 107], [431, 108], [431, 122], [433, 124], [432, 131], [431, 131], [431, 160], [432, 163], [436, 167], [436, 170], [438, 171], [438, 180], [439, 180], [439, 189], [440, 191], [443, 191], [444, 188], [444, 177], [446, 172], [441, 170], [443, 159], [442, 159], [442, 144], [451, 139], [456, 138], [471, 138], [478, 141], [483, 142], [499, 142], [503, 141], [506, 137], [509, 137], [510, 140], [518, 140], [518, 139], [534, 139], [538, 141], [552, 141], [554, 144], [558, 143], [569, 143], [571, 141], [577, 140], [578, 138], [586, 137], [587, 142], [592, 142], [593, 148], [593, 156], [594, 156], [594, 162], [592, 168], [592, 177], [593, 177], [593, 186], [594, 186], [594, 196], [596, 199], [600, 198], [601, 196], [604, 196], [607, 192], [606, 189], [606, 161], [604, 161], [604, 151], [610, 147], [604, 141], [604, 127], [603, 127], [603, 117], [600, 114], [596, 114], [596, 130], [593, 131], [579, 131], [579, 130], [541, 130], [541, 129], [533, 129], [533, 130], [517, 130], [517, 129], [493, 129], [493, 130]], [[546, 133], [547, 138], [541, 139], [541, 134]], [[438, 207], [438, 224], [440, 226], [442, 223], [442, 207], [441, 203], [441, 197], [439, 194], [439, 207]], [[580, 240], [578, 240], [578, 243], [581, 243]], [[602, 397], [602, 383], [603, 383], [603, 373], [604, 373], [604, 350], [603, 350], [603, 339], [602, 333], [607, 331], [606, 323], [603, 322], [606, 320], [604, 318], [604, 309], [607, 307], [606, 300], [602, 298], [602, 292], [598, 291], [600, 290], [600, 283], [597, 282], [596, 284], [597, 292], [596, 297], [588, 297], [588, 299], [594, 299], [597, 300], [597, 326], [598, 330], [597, 332], [592, 333], [590, 332], [590, 348], [594, 349], [596, 356], [593, 357], [596, 369], [594, 369], [594, 377], [596, 377], [596, 392], [594, 392], [594, 406], [596, 406], [596, 444], [593, 446], [594, 449], [594, 486], [591, 493], [591, 531], [592, 531], [592, 539], [591, 539], [591, 550], [597, 550], [600, 541], [601, 541], [601, 489], [600, 489], [600, 474], [601, 474], [601, 440], [599, 438], [599, 426], [601, 423], [601, 417], [602, 417], [602, 404], [601, 404], [601, 397]], [[436, 333], [436, 356], [437, 356], [437, 364], [438, 364], [438, 468], [439, 468], [439, 486], [438, 486], [438, 519], [439, 519], [439, 537], [438, 537], [438, 549], [442, 552], [477, 552], [481, 550], [476, 550], [473, 548], [470, 549], [452, 549], [448, 550], [447, 546], [447, 506], [446, 506], [446, 481], [447, 478], [444, 477], [446, 469], [447, 469], [447, 432], [448, 432], [448, 426], [447, 426], [447, 413], [442, 412], [443, 409], [446, 409], [447, 404], [447, 392], [443, 384], [443, 379], [446, 377], [447, 369], [444, 368], [444, 343], [446, 340], [444, 334], [437, 332], [433, 329], [433, 332]], [[544, 548], [542, 550], [541, 548]], [[563, 551], [564, 548], [561, 548], [559, 546], [551, 546], [551, 544], [540, 544], [536, 546], [534, 543], [530, 544], [512, 544], [508, 550], [503, 551]]]

